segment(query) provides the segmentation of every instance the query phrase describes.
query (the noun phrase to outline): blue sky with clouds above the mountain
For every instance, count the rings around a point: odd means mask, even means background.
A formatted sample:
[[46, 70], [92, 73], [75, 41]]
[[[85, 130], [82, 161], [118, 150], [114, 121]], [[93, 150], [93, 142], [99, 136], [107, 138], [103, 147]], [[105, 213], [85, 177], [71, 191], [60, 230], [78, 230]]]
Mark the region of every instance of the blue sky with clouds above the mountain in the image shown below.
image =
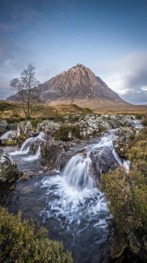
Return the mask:
[[1, 0], [0, 99], [31, 63], [41, 83], [78, 63], [122, 99], [147, 103], [147, 3]]

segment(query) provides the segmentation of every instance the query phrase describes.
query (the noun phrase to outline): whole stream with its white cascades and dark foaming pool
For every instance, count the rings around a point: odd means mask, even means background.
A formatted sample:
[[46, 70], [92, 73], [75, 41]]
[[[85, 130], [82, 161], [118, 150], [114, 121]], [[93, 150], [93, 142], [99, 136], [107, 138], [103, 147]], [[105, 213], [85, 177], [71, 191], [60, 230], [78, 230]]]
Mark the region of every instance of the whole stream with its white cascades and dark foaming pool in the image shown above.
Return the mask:
[[[117, 131], [112, 129], [99, 141], [87, 145], [85, 158], [76, 154], [62, 172], [53, 170], [50, 174], [39, 159], [40, 147], [36, 155], [29, 155], [30, 144], [44, 139], [43, 132], [26, 140], [21, 148], [2, 147], [17, 162], [20, 171], [29, 169], [40, 175], [1, 188], [0, 205], [8, 206], [9, 212], [14, 214], [21, 210], [22, 219], [37, 218], [48, 229], [49, 238], [62, 240], [65, 250], [72, 251], [74, 262], [111, 262], [114, 229], [103, 193], [90, 176], [92, 161], [89, 156], [93, 149], [107, 148], [115, 160], [129, 170], [130, 162], [121, 160], [113, 148], [112, 141], [117, 138]], [[101, 169], [97, 168], [101, 178]]]

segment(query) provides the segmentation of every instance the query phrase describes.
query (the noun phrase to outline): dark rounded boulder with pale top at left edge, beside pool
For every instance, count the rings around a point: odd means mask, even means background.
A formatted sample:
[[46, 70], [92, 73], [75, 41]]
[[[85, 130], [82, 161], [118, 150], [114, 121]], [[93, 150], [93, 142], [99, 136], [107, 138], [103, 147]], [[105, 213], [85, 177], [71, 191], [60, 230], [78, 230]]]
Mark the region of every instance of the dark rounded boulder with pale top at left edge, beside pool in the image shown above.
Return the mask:
[[12, 182], [19, 176], [16, 162], [9, 154], [0, 148], [0, 182]]

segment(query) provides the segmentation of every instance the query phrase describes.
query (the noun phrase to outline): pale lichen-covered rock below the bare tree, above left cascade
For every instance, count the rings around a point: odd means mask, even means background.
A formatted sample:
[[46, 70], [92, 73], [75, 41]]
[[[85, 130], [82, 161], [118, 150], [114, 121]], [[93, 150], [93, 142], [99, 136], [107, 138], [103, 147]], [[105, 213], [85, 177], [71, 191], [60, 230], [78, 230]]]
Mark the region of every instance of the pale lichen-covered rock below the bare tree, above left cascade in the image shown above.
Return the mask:
[[18, 123], [17, 130], [12, 132], [10, 138], [20, 136], [21, 134], [29, 135], [33, 131], [33, 127], [30, 121], [24, 121]]

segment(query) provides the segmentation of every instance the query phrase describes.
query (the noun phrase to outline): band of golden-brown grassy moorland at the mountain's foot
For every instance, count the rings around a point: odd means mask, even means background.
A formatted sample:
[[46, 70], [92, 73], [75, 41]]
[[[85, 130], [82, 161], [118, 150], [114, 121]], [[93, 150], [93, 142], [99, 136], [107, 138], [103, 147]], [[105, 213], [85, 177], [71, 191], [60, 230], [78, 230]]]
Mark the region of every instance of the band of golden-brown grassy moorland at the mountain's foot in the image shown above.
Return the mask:
[[[138, 107], [138, 106], [137, 106]], [[142, 110], [136, 108], [136, 110], [132, 109], [132, 112], [130, 109], [127, 111], [124, 111], [124, 109], [116, 109], [114, 110], [91, 110], [89, 108], [81, 108], [77, 106], [76, 104], [64, 104], [64, 105], [57, 105], [57, 106], [50, 106], [50, 105], [42, 105], [36, 107], [35, 111], [32, 113], [32, 119], [49, 119], [54, 120], [55, 122], [58, 122], [61, 120], [61, 118], [65, 115], [75, 115], [75, 114], [81, 114], [86, 115], [90, 113], [146, 113], [147, 107], [142, 107]], [[13, 102], [7, 102], [7, 101], [0, 101], [0, 119], [6, 119], [7, 122], [20, 122], [25, 119], [25, 114], [23, 112], [23, 108], [20, 103], [13, 103]]]

